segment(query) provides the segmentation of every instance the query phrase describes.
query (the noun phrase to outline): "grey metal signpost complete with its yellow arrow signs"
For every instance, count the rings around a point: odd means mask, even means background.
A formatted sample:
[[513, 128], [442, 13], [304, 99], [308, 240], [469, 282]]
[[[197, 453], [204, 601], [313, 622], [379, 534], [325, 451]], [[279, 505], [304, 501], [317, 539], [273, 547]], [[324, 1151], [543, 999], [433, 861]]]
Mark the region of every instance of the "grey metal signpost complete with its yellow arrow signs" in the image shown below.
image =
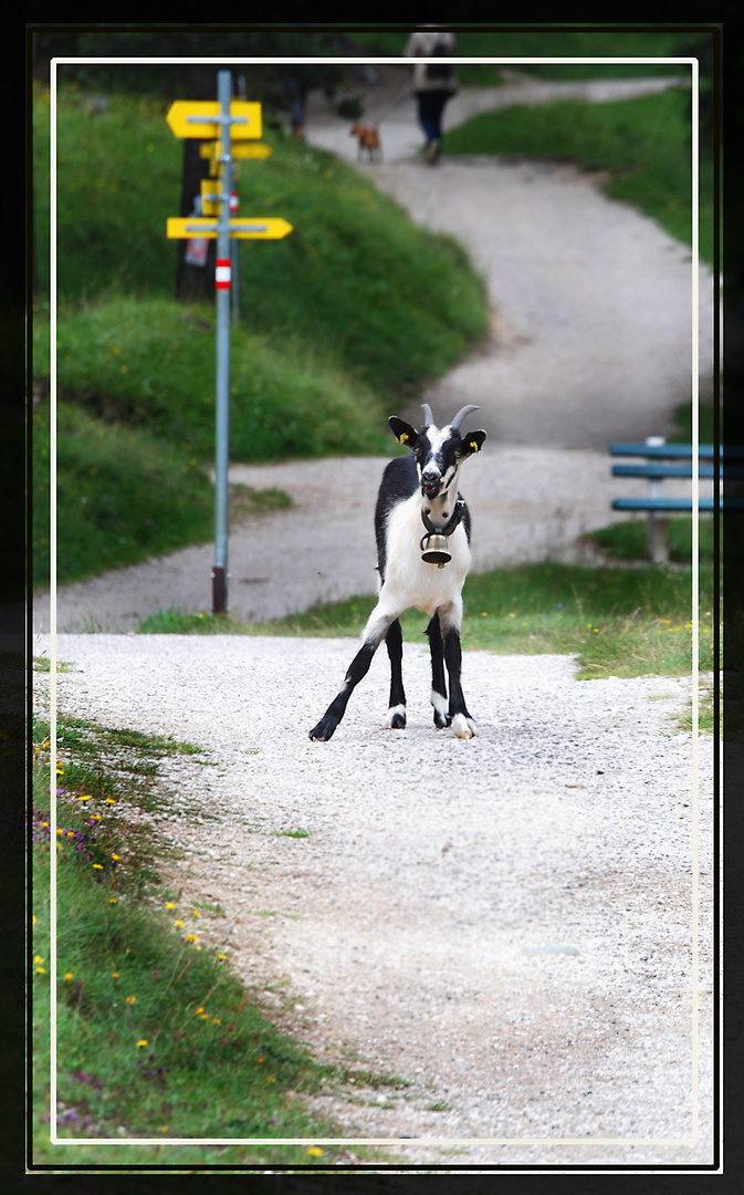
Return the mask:
[[227, 467], [229, 446], [229, 337], [230, 337], [230, 244], [233, 240], [277, 240], [291, 232], [285, 220], [230, 217], [236, 206], [233, 191], [233, 160], [235, 158], [265, 158], [269, 146], [236, 145], [233, 140], [260, 137], [260, 104], [232, 98], [229, 71], [217, 72], [217, 99], [177, 100], [167, 117], [177, 137], [199, 137], [211, 141], [202, 146], [201, 157], [210, 159], [210, 179], [202, 185], [203, 216], [170, 219], [167, 237], [216, 239], [215, 290], [217, 308], [217, 361], [215, 394], [215, 563], [211, 572], [213, 614], [227, 612]]

